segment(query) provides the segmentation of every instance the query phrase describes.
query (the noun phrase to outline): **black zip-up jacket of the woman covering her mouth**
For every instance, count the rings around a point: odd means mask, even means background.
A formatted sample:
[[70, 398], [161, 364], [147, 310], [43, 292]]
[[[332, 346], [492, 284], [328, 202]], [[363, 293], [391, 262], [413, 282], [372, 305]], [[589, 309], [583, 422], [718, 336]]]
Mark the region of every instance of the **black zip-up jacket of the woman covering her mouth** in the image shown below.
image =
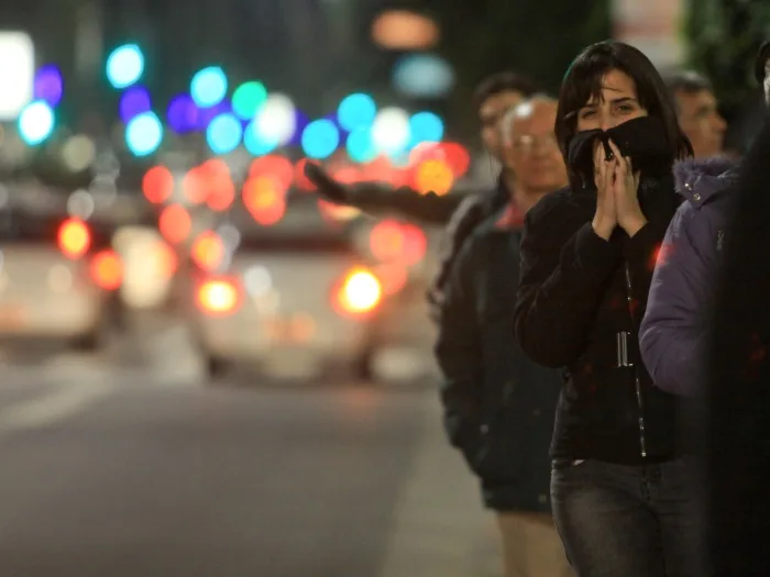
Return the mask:
[[648, 223], [632, 238], [594, 232], [592, 186], [546, 197], [525, 221], [516, 335], [568, 377], [553, 458], [640, 464], [675, 453], [676, 399], [652, 386], [638, 345], [656, 252], [679, 204], [672, 177], [642, 179], [639, 199]]

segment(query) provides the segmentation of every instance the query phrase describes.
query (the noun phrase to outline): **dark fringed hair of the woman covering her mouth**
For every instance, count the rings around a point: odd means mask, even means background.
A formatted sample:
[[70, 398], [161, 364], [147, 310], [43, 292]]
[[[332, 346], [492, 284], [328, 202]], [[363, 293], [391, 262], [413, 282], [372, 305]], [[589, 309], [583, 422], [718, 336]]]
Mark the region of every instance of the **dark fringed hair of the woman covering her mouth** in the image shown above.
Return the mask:
[[[692, 156], [692, 144], [679, 127], [671, 93], [650, 59], [634, 46], [604, 41], [592, 44], [579, 54], [564, 75], [554, 126], [564, 159], [569, 158], [570, 142], [578, 132], [578, 112], [588, 100], [601, 97], [602, 79], [612, 70], [620, 70], [634, 80], [639, 104], [650, 116], [662, 122], [671, 164], [675, 159]], [[570, 182], [573, 187], [578, 186], [580, 175], [569, 163], [566, 168]]]

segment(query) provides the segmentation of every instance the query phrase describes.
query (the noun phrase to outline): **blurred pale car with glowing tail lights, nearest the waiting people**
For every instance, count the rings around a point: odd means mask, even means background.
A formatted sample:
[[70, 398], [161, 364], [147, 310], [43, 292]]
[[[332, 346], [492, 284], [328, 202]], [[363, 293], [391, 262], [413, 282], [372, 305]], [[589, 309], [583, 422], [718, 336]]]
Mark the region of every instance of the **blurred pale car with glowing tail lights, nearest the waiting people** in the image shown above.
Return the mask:
[[332, 225], [307, 196], [266, 209], [233, 208], [190, 246], [187, 310], [208, 374], [245, 362], [371, 377], [383, 288], [354, 224]]

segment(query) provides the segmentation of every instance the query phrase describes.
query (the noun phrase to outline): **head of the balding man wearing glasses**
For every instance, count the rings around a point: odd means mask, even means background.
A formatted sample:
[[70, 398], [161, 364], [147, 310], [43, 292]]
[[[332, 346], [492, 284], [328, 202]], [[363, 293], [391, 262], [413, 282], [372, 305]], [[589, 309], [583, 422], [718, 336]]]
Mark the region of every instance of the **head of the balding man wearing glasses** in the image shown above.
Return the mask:
[[531, 192], [552, 192], [566, 186], [566, 167], [553, 125], [558, 101], [537, 95], [503, 116], [503, 162]]

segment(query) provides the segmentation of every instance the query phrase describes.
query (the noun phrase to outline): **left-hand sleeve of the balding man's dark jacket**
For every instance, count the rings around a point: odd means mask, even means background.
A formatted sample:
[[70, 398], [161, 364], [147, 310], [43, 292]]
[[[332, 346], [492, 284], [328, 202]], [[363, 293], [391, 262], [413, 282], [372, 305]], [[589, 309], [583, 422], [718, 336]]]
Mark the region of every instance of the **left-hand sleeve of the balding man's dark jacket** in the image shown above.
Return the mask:
[[480, 440], [479, 411], [483, 380], [482, 339], [476, 317], [473, 242], [463, 246], [446, 287], [441, 324], [435, 346], [443, 377], [441, 402], [452, 445], [470, 464]]

